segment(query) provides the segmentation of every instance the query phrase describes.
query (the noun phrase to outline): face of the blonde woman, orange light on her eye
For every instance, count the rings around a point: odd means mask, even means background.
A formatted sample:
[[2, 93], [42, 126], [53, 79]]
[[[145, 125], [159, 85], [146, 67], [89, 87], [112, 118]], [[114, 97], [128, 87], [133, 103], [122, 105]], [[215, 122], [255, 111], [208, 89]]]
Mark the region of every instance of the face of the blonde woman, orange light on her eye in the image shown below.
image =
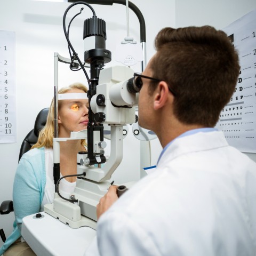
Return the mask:
[[[86, 93], [80, 89], [71, 89], [67, 93]], [[60, 101], [59, 101], [60, 102]], [[87, 128], [88, 99], [61, 100], [59, 103], [59, 137], [68, 138], [70, 132], [77, 132]]]

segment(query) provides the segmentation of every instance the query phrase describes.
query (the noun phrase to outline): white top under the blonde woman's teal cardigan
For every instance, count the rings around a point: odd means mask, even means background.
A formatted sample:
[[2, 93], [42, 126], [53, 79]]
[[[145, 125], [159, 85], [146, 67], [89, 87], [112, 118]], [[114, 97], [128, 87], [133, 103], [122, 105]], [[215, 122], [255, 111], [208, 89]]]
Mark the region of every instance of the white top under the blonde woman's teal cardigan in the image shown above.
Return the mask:
[[[46, 183], [44, 188], [44, 197], [41, 204], [41, 211], [44, 210], [45, 204], [53, 203], [55, 185], [53, 180], [53, 149], [45, 148], [45, 172], [46, 172]], [[62, 175], [60, 174], [60, 177]], [[62, 179], [59, 183], [59, 193], [65, 197], [69, 198], [70, 194], [74, 192], [76, 187], [75, 182], [69, 182], [66, 179]]]

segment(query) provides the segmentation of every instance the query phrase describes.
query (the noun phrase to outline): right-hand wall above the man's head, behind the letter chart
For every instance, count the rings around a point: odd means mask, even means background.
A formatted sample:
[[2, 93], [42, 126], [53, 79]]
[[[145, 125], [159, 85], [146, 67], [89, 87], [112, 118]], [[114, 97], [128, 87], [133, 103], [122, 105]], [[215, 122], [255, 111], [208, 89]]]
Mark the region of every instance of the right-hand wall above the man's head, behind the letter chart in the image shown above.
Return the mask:
[[[176, 27], [210, 25], [222, 29], [254, 9], [255, 0], [175, 1], [175, 23]], [[256, 154], [245, 154], [256, 162]]]

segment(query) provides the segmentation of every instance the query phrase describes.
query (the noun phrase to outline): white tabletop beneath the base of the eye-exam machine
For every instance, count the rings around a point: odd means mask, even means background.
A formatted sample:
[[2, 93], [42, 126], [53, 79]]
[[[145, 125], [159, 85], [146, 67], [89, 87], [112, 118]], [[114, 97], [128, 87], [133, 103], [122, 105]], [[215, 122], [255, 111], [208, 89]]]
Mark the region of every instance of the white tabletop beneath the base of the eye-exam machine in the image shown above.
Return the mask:
[[96, 231], [89, 227], [70, 228], [51, 215], [29, 215], [22, 220], [22, 236], [38, 256], [83, 256]]

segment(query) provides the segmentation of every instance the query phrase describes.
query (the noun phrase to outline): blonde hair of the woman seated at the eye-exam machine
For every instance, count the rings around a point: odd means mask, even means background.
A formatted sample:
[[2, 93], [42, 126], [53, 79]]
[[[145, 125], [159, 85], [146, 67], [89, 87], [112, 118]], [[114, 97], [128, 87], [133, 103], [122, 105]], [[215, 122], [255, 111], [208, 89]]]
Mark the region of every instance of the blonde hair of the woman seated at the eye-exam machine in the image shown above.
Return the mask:
[[[81, 83], [74, 83], [69, 85], [68, 87], [62, 87], [59, 90], [60, 93], [67, 93], [68, 91], [72, 89], [79, 89], [84, 92], [87, 92], [87, 88], [81, 84]], [[61, 108], [61, 101], [58, 102], [58, 108]], [[53, 136], [54, 136], [54, 98], [52, 99], [51, 106], [49, 109], [49, 113], [47, 115], [47, 121], [44, 126], [44, 128], [39, 132], [37, 142], [35, 143], [34, 146], [31, 147], [33, 148], [52, 148], [53, 147]], [[81, 145], [86, 145], [85, 140], [81, 140]]]

